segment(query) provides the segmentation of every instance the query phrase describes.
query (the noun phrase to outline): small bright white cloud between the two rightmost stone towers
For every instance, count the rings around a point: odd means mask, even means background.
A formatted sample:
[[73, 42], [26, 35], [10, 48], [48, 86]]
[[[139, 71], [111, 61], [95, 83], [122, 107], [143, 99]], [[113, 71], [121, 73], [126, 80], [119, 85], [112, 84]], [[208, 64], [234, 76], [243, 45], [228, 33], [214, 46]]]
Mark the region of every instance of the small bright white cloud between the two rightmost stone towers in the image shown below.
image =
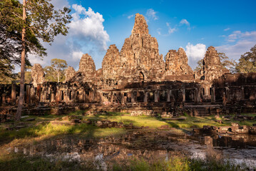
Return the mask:
[[196, 45], [188, 43], [185, 52], [188, 56], [188, 63], [192, 68], [195, 68], [197, 66], [197, 62], [205, 56], [206, 46], [202, 43], [198, 43]]

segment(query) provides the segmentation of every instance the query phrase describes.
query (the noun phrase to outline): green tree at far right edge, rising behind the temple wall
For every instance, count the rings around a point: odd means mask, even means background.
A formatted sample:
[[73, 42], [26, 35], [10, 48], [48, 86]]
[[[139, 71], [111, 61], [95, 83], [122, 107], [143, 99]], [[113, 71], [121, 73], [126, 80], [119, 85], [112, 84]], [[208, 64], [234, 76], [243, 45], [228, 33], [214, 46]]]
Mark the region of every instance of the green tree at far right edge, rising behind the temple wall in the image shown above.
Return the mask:
[[256, 45], [240, 57], [235, 70], [237, 73], [256, 73]]

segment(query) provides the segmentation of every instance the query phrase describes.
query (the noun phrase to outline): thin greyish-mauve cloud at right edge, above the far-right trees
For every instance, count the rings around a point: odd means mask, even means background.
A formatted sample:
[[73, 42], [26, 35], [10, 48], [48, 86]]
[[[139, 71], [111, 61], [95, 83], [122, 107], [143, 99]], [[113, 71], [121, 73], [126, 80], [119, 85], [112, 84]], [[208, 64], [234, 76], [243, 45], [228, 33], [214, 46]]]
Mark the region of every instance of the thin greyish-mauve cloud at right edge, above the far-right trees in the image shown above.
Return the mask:
[[227, 36], [227, 44], [217, 46], [219, 52], [226, 53], [229, 58], [239, 59], [242, 54], [250, 51], [256, 44], [256, 31], [233, 31]]

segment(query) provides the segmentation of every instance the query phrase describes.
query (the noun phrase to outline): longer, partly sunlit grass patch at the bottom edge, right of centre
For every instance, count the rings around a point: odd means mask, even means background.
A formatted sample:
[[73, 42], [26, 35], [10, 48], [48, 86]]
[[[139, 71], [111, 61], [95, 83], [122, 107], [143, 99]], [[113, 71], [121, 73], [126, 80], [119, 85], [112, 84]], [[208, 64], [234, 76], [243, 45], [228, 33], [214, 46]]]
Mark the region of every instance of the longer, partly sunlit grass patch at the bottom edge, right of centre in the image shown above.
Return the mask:
[[143, 158], [140, 159], [130, 159], [127, 162], [122, 164], [114, 164], [112, 170], [131, 170], [131, 171], [193, 171], [193, 170], [245, 170], [240, 167], [240, 165], [232, 164], [227, 161], [219, 161], [219, 160], [200, 160], [200, 159], [189, 159], [188, 157], [183, 156], [173, 156], [170, 157], [169, 160], [153, 160], [147, 161]]

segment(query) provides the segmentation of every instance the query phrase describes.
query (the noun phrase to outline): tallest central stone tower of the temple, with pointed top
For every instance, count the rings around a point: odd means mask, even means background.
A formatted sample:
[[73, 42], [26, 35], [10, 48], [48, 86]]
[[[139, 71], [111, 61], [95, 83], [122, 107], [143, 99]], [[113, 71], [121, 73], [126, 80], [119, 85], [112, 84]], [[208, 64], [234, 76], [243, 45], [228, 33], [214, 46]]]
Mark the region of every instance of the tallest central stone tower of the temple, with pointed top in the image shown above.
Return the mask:
[[163, 56], [159, 55], [158, 41], [148, 33], [144, 16], [136, 14], [133, 30], [121, 49], [121, 67], [127, 74], [142, 71], [144, 75], [156, 76], [164, 68]]

